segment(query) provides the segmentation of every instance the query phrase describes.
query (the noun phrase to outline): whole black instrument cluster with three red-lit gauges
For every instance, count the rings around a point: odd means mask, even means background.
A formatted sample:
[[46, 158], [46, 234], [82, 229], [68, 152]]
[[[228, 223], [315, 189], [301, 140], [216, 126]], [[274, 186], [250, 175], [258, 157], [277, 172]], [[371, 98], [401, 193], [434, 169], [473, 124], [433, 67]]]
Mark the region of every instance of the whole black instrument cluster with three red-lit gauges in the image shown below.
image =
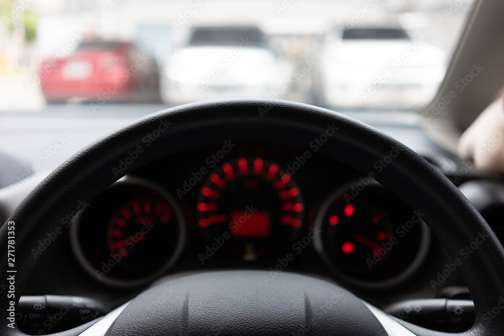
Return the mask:
[[72, 220], [72, 248], [87, 276], [118, 288], [198, 267], [277, 272], [290, 261], [292, 271], [311, 265], [358, 288], [392, 288], [420, 270], [430, 232], [423, 214], [363, 176], [283, 145], [192, 149], [97, 195]]

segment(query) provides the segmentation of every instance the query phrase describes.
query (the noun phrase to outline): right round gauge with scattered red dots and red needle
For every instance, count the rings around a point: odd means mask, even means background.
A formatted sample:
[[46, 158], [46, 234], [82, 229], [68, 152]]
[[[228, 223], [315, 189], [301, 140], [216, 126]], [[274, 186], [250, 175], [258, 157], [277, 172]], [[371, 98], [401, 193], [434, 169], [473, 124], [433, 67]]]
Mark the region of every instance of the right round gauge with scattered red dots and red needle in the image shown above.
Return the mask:
[[322, 233], [314, 245], [341, 279], [390, 288], [412, 276], [427, 255], [430, 231], [422, 217], [379, 183], [357, 181], [322, 205], [314, 221]]

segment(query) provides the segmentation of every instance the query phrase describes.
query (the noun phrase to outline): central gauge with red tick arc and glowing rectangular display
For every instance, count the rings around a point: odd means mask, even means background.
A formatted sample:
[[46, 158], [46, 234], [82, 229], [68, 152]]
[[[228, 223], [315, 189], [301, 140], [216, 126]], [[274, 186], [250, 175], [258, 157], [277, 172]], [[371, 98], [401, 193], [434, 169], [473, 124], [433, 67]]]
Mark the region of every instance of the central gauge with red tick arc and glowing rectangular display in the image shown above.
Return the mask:
[[296, 182], [278, 164], [260, 157], [224, 163], [203, 184], [197, 219], [207, 241], [223, 238], [244, 260], [254, 260], [278, 242], [291, 243], [303, 225], [304, 204]]

